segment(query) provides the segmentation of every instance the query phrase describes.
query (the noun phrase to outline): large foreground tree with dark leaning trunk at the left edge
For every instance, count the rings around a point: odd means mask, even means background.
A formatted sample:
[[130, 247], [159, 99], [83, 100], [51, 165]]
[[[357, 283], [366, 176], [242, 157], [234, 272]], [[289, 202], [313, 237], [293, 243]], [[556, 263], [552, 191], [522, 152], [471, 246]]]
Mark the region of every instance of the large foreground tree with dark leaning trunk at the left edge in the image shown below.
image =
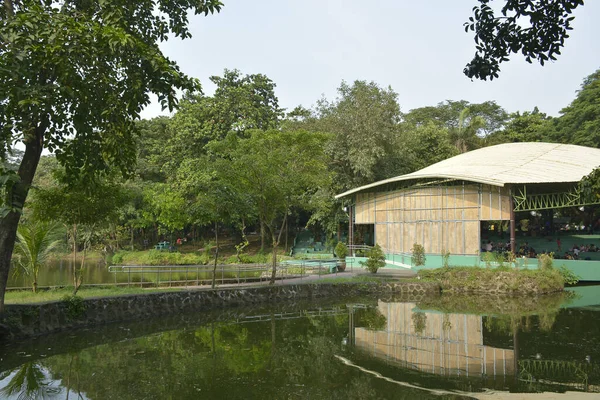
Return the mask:
[[[44, 148], [67, 175], [92, 179], [135, 158], [134, 120], [155, 93], [163, 107], [196, 80], [159, 43], [191, 36], [188, 11], [213, 13], [219, 0], [5, 0], [0, 9], [0, 158], [17, 142], [25, 153], [0, 217], [0, 312], [20, 209]], [[2, 171], [4, 174], [4, 171]], [[6, 185], [4, 178], [0, 183]]]

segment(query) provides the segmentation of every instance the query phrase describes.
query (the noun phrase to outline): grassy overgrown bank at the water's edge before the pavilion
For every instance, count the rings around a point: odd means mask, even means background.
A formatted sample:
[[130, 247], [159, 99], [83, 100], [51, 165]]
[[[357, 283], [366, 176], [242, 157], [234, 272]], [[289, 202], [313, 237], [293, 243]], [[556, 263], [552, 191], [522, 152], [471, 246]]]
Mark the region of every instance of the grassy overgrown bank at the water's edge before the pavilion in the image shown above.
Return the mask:
[[444, 292], [552, 293], [562, 291], [565, 276], [559, 269], [451, 267], [419, 271], [425, 281], [438, 282]]

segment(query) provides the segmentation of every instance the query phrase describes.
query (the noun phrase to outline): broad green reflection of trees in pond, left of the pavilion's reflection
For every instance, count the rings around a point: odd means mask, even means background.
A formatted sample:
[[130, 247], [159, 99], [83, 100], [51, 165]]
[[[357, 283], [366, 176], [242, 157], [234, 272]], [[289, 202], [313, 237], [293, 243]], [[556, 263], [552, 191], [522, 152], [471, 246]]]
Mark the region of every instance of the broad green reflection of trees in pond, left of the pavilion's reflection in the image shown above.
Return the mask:
[[[362, 323], [385, 324], [376, 309]], [[214, 322], [99, 345], [44, 361], [64, 386], [89, 398], [376, 399], [378, 380], [334, 357], [346, 351], [348, 314], [264, 322]], [[77, 373], [73, 373], [77, 371]], [[403, 394], [392, 398], [412, 398]], [[389, 397], [389, 396], [388, 396]]]

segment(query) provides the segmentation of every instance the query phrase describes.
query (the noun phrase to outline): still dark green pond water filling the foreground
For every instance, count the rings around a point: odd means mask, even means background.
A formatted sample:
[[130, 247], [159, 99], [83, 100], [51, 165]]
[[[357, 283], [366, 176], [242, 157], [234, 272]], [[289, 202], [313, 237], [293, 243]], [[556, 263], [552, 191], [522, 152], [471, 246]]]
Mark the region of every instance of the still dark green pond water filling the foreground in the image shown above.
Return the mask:
[[281, 304], [0, 344], [0, 398], [600, 398], [600, 287]]

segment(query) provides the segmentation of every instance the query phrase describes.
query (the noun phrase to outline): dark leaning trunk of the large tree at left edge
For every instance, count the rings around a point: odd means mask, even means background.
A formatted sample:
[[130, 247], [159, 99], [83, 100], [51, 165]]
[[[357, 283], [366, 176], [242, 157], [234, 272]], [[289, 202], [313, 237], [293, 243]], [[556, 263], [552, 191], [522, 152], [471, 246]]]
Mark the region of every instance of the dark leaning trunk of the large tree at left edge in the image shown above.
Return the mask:
[[20, 181], [12, 187], [12, 193], [7, 199], [10, 202], [7, 205], [18, 209], [18, 211], [10, 211], [5, 217], [0, 218], [0, 313], [4, 311], [4, 293], [10, 272], [10, 259], [17, 239], [17, 227], [21, 218], [20, 210], [25, 204], [31, 182], [40, 162], [44, 131], [45, 127], [40, 125], [35, 128], [33, 137], [27, 137], [26, 135], [25, 153], [18, 171]]

